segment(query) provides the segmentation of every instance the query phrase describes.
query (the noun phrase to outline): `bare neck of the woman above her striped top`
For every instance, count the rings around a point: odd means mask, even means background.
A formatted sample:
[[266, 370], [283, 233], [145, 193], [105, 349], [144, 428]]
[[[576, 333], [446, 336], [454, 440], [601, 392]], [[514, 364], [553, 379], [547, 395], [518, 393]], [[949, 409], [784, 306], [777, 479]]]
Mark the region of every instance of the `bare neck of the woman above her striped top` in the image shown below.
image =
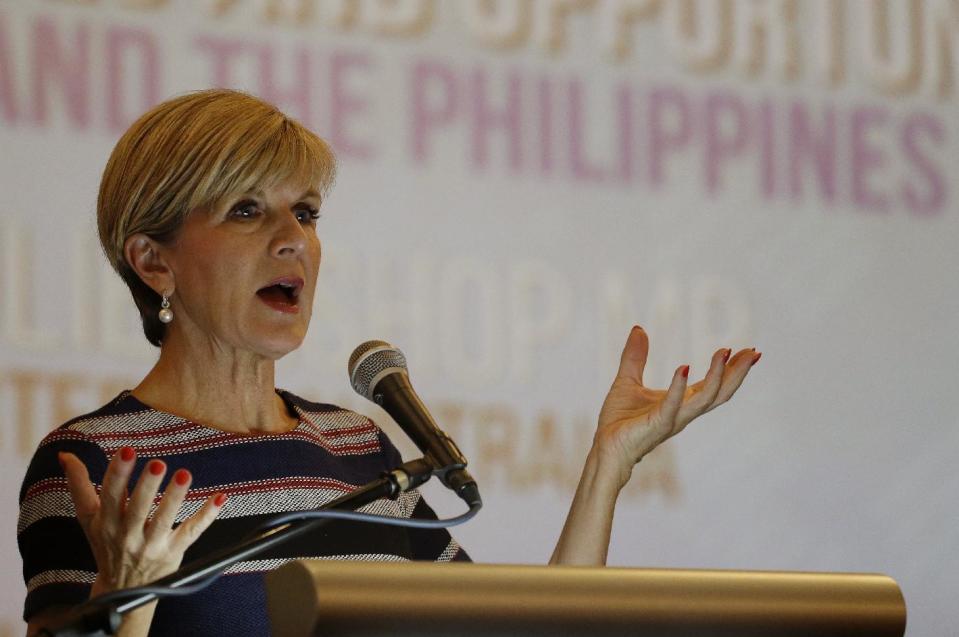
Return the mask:
[[274, 361], [171, 339], [133, 395], [154, 409], [239, 433], [288, 431], [297, 419], [274, 386]]

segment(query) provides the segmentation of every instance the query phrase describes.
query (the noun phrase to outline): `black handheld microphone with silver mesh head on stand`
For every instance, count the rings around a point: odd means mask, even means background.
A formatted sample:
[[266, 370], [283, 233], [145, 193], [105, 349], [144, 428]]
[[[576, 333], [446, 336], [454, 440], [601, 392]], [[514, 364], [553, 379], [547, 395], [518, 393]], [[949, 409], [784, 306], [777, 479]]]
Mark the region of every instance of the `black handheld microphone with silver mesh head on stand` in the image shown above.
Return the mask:
[[384, 341], [366, 341], [353, 350], [347, 369], [356, 393], [392, 416], [433, 466], [433, 475], [470, 508], [480, 506], [479, 489], [466, 471], [466, 458], [413, 390], [403, 352]]

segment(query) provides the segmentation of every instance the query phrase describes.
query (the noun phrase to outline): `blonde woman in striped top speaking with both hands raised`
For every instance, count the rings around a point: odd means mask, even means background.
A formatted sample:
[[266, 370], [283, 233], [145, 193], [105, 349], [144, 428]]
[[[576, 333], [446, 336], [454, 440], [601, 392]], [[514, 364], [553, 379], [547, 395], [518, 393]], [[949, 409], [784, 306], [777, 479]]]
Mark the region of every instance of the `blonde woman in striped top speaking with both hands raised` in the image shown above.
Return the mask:
[[[227, 90], [160, 104], [118, 142], [100, 188], [100, 239], [160, 356], [133, 390], [52, 432], [34, 456], [18, 527], [31, 631], [399, 464], [368, 419], [274, 386], [274, 362], [306, 335], [316, 219], [334, 171], [313, 133]], [[704, 380], [687, 386], [682, 366], [657, 391], [642, 384], [647, 350], [633, 328], [553, 563], [603, 564], [633, 465], [728, 400], [759, 358], [722, 349]], [[415, 491], [367, 510], [433, 515]], [[468, 559], [445, 531], [329, 525], [196, 595], [142, 607], [120, 634], [268, 634], [260, 574], [300, 557]]]

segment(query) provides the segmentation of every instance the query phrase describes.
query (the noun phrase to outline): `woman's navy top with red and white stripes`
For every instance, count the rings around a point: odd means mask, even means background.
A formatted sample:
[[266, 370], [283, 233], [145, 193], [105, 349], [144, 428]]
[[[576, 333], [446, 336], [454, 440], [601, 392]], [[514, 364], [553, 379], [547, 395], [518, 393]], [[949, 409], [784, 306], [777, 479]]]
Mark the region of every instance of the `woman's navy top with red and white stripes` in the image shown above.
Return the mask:
[[[17, 542], [27, 598], [23, 617], [89, 597], [96, 562], [76, 512], [57, 453], [76, 454], [99, 486], [110, 457], [136, 450], [131, 485], [152, 458], [193, 474], [177, 521], [221, 491], [229, 496], [216, 521], [191, 546], [183, 563], [240, 538], [272, 515], [312, 509], [397, 467], [400, 454], [373, 422], [333, 405], [312, 403], [278, 390], [299, 423], [277, 434], [239, 434], [198, 425], [157, 411], [123, 392], [100, 409], [48, 434], [34, 454], [20, 490]], [[165, 484], [161, 486], [161, 490]], [[418, 491], [378, 500], [360, 509], [395, 517], [435, 518]], [[262, 573], [295, 559], [468, 560], [444, 530], [402, 529], [331, 521], [239, 562], [195, 595], [159, 602], [151, 635], [269, 635]]]

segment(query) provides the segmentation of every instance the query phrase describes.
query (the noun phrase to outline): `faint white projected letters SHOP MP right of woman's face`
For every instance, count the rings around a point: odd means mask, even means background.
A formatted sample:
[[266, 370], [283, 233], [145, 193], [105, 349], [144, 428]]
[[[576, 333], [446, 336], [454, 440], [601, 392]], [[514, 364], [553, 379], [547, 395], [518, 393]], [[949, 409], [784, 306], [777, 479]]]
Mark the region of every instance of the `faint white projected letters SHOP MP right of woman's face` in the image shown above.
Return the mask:
[[663, 382], [676, 361], [754, 337], [743, 284], [707, 273], [650, 281], [597, 265], [595, 280], [581, 282], [545, 260], [384, 257], [344, 246], [328, 255], [315, 309], [322, 331], [305, 344], [308, 358], [345, 359], [357, 342], [379, 337], [412, 356], [417, 375], [469, 388], [535, 386], [550, 355], [585, 324], [592, 355], [576, 368], [606, 383], [623, 335], [640, 322], [656, 336], [650, 378]]

